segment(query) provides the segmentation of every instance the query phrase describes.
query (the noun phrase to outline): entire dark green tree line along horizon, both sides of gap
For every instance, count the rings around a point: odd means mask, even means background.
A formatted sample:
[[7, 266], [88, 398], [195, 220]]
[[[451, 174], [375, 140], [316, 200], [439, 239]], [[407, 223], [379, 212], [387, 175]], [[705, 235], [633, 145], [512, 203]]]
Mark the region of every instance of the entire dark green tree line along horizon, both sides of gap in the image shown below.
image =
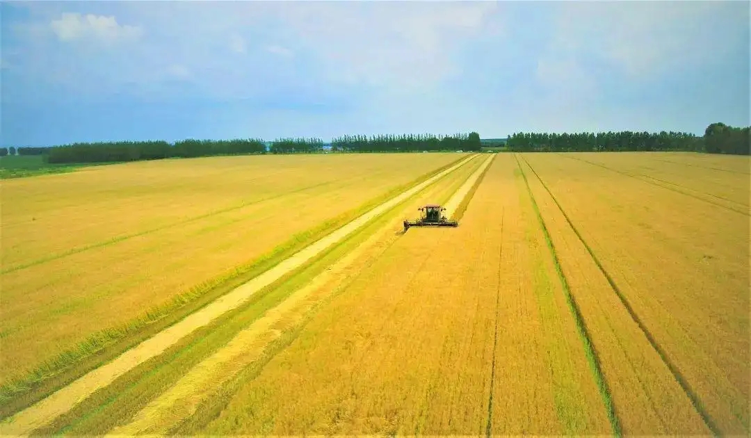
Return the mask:
[[[508, 136], [508, 150], [518, 152], [592, 151], [694, 151], [749, 155], [749, 127], [734, 128], [724, 123], [707, 126], [703, 137], [686, 132], [608, 131], [580, 133], [518, 132]], [[268, 145], [268, 147], [267, 147]], [[480, 135], [433, 134], [344, 135], [331, 143], [332, 152], [398, 153], [440, 150], [481, 150]], [[73, 143], [56, 147], [2, 147], [0, 156], [46, 155], [50, 163], [130, 162], [137, 160], [192, 158], [240, 154], [321, 153], [320, 138], [281, 138], [265, 142], [259, 138], [235, 140], [118, 141]]]

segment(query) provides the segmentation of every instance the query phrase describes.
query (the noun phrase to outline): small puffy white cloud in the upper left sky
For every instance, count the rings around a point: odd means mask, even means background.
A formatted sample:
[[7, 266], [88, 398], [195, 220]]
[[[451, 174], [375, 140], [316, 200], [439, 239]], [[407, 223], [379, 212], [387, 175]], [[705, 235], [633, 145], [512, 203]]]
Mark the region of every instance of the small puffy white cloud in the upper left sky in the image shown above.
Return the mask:
[[60, 41], [128, 41], [143, 35], [138, 26], [120, 25], [113, 16], [94, 14], [63, 13], [50, 22], [50, 28]]

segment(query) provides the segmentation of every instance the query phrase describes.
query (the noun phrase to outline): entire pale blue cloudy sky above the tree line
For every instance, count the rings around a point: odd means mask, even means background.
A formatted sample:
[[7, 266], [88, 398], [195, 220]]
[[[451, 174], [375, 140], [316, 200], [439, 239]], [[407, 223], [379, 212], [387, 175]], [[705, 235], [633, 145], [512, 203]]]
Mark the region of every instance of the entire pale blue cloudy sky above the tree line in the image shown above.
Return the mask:
[[2, 2], [2, 145], [749, 124], [748, 2]]

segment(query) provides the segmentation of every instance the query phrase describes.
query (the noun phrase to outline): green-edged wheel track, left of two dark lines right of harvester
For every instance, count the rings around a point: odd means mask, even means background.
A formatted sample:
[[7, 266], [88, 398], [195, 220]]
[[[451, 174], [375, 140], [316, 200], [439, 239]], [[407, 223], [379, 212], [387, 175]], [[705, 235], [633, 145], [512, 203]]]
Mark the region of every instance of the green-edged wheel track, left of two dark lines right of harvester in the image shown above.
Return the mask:
[[526, 180], [526, 174], [524, 174], [524, 170], [519, 163], [517, 154], [515, 153], [514, 159], [517, 162], [517, 168], [519, 168], [519, 170], [521, 171], [521, 176], [524, 180], [524, 184], [526, 185], [527, 192], [529, 192], [529, 198], [532, 199], [532, 208], [535, 210], [535, 216], [537, 216], [538, 222], [540, 222], [540, 227], [542, 228], [545, 242], [547, 243], [547, 248], [550, 249], [550, 255], [553, 257], [553, 264], [556, 267], [556, 272], [558, 273], [558, 278], [561, 282], [563, 293], [566, 295], [566, 303], [569, 304], [569, 310], [571, 310], [571, 313], [574, 316], [576, 328], [579, 332], [579, 337], [581, 338], [581, 342], [584, 344], [584, 352], [587, 355], [587, 362], [590, 364], [590, 369], [592, 370], [592, 373], [594, 375], [597, 388], [599, 388], [600, 395], [602, 396], [602, 401], [603, 403], [605, 403], [605, 410], [608, 413], [608, 420], [610, 420], [611, 428], [615, 436], [622, 436], [623, 433], [621, 431], [620, 421], [618, 421], [618, 416], [615, 412], [615, 405], [610, 394], [610, 388], [608, 388], [608, 383], [605, 382], [605, 376], [603, 376], [599, 358], [597, 357], [597, 352], [592, 345], [592, 341], [590, 341], [590, 334], [587, 331], [587, 325], [584, 322], [584, 317], [581, 315], [578, 304], [576, 304], [574, 296], [571, 293], [569, 282], [566, 281], [566, 275], [563, 273], [562, 267], [560, 265], [558, 255], [556, 253], [556, 248], [553, 245], [552, 238], [550, 237], [550, 232], [547, 231], [547, 226], [545, 225], [544, 219], [542, 219], [540, 208], [537, 205], [537, 201], [535, 201], [535, 196], [532, 195], [532, 188], [529, 187], [529, 181]]

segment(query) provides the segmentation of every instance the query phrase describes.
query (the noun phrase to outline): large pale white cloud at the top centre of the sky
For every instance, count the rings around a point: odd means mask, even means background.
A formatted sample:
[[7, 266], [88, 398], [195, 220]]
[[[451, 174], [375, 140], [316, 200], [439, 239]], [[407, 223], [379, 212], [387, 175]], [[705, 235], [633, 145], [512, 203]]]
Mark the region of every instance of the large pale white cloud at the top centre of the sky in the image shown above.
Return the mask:
[[490, 2], [303, 3], [283, 20], [330, 80], [417, 91], [461, 70], [454, 49], [495, 8]]

